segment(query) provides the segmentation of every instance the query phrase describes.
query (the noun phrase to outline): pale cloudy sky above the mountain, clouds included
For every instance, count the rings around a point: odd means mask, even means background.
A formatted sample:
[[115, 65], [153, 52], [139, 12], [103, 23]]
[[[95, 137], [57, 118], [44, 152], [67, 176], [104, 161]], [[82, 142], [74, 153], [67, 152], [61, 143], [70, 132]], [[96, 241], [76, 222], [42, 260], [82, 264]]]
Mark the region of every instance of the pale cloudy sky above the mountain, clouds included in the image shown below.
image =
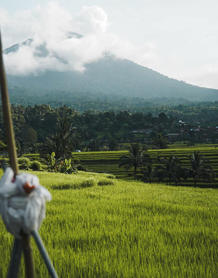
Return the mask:
[[[217, 10], [215, 0], [1, 0], [4, 48], [33, 38], [17, 53], [4, 55], [6, 70], [82, 72], [86, 63], [110, 52], [171, 78], [218, 89]], [[69, 38], [72, 31], [84, 37]], [[47, 57], [36, 57], [40, 45]]]

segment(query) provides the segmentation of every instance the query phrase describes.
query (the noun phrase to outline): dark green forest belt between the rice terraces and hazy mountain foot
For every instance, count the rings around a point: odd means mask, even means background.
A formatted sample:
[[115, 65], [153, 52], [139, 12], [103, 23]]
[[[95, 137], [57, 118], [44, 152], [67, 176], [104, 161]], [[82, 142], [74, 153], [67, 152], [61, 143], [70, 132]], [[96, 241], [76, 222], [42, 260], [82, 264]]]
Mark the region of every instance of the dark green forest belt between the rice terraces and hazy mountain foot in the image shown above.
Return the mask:
[[[126, 110], [115, 113], [87, 110], [84, 113], [65, 106], [51, 108], [49, 105], [15, 106], [12, 105], [12, 118], [20, 152], [39, 152], [46, 140], [57, 133], [59, 119], [67, 118], [73, 132], [73, 147], [99, 150], [107, 143], [110, 150], [116, 148], [116, 142], [134, 142], [134, 129], [150, 128], [152, 132], [147, 139], [156, 133], [179, 132], [176, 123], [185, 121], [188, 133], [190, 128], [198, 125], [218, 125], [218, 102], [199, 106], [178, 105], [175, 107], [147, 107], [146, 112], [130, 113]], [[0, 109], [1, 141], [5, 144], [4, 119]], [[103, 133], [99, 140], [98, 134]], [[47, 138], [47, 139], [46, 139]], [[187, 138], [188, 139], [188, 138]], [[95, 146], [94, 146], [95, 144]], [[97, 147], [96, 147], [97, 144]]]

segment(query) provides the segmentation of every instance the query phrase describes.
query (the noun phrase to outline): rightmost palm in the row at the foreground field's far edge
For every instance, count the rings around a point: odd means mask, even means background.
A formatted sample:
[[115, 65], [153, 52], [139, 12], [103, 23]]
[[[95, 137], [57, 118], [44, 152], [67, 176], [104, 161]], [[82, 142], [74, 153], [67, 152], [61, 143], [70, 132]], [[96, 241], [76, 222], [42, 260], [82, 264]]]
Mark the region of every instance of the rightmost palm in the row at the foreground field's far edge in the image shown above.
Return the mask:
[[194, 151], [192, 155], [187, 155], [191, 162], [191, 169], [185, 168], [185, 178], [190, 176], [194, 179], [194, 187], [196, 187], [196, 183], [199, 179], [211, 180], [215, 182], [215, 173], [213, 171], [212, 166], [208, 165], [207, 163], [210, 162], [209, 159], [203, 158], [200, 155], [199, 151]]

